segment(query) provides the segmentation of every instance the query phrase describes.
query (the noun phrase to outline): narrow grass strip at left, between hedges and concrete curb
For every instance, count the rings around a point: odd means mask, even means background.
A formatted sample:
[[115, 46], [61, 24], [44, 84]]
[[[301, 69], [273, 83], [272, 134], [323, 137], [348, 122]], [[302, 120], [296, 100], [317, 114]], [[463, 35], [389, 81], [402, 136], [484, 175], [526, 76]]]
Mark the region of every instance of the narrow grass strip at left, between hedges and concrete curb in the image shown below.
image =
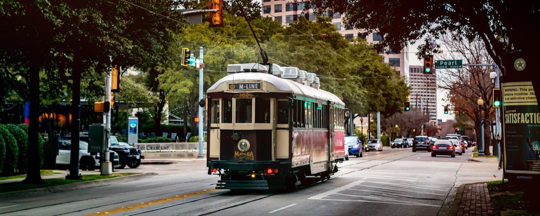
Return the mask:
[[23, 191], [23, 190], [29, 190], [29, 189], [35, 189], [35, 188], [43, 188], [43, 187], [65, 185], [65, 184], [70, 184], [70, 183], [78, 183], [82, 181], [93, 181], [93, 180], [108, 179], [108, 178], [121, 177], [121, 176], [130, 176], [133, 174], [139, 174], [139, 173], [113, 173], [111, 176], [101, 176], [100, 174], [93, 174], [93, 175], [83, 176], [82, 180], [66, 180], [64, 178], [43, 179], [45, 183], [40, 184], [40, 185], [23, 184], [20, 182], [6, 183], [6, 184], [0, 184], [0, 191], [1, 192]]

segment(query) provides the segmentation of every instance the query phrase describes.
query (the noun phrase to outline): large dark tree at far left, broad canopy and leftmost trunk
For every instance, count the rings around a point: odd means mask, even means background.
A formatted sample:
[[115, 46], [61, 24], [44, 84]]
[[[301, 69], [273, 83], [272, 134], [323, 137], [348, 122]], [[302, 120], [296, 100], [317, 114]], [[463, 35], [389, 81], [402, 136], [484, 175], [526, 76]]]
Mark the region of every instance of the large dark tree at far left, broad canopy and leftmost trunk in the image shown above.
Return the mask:
[[[71, 75], [72, 80], [80, 80], [90, 69], [104, 73], [110, 71], [111, 64], [137, 65], [155, 59], [154, 53], [161, 53], [172, 33], [180, 30], [177, 22], [161, 17], [178, 19], [178, 12], [171, 10], [178, 6], [176, 2], [139, 2], [156, 12], [116, 1], [3, 2], [0, 23], [10, 33], [0, 39], [18, 43], [0, 46], [0, 68], [20, 69], [30, 89], [30, 151], [25, 183], [43, 182], [36, 161], [40, 71], [58, 71], [60, 77]], [[78, 82], [71, 89], [72, 102], [78, 103]]]

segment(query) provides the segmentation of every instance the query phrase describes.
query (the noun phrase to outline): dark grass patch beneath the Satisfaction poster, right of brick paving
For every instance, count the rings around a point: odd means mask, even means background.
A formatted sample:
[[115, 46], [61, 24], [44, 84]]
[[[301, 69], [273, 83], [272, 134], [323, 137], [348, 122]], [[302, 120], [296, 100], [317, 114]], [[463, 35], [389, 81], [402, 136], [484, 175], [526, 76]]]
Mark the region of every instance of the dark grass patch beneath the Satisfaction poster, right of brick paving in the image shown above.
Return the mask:
[[[531, 204], [538, 205], [536, 201], [531, 203], [524, 199], [524, 187], [518, 187], [508, 183], [505, 180], [488, 182], [489, 195], [491, 197], [491, 206], [495, 215], [501, 215], [501, 211], [528, 211]], [[536, 207], [538, 208], [538, 207]], [[510, 215], [540, 215], [538, 212], [515, 212]]]

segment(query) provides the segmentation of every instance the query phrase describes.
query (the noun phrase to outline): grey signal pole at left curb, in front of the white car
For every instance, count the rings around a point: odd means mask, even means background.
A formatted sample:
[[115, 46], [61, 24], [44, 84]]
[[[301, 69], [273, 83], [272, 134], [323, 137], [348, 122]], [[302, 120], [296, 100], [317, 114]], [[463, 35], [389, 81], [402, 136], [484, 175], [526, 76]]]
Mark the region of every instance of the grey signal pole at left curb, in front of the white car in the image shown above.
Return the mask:
[[111, 146], [111, 73], [112, 70], [107, 73], [107, 77], [105, 78], [105, 102], [109, 102], [109, 112], [107, 112], [105, 118], [105, 146], [103, 148], [104, 159], [102, 163], [102, 176], [110, 176], [112, 174], [112, 163], [109, 153], [109, 147]]

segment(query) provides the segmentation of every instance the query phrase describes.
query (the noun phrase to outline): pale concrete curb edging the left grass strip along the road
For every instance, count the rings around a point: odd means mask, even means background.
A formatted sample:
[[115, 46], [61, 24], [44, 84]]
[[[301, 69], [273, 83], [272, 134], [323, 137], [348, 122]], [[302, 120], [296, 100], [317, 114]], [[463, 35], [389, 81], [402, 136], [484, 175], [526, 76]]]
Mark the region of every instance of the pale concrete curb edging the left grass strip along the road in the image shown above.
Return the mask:
[[118, 182], [139, 180], [139, 179], [143, 179], [143, 178], [147, 178], [147, 177], [155, 176], [155, 175], [157, 175], [157, 173], [140, 173], [140, 174], [134, 174], [130, 176], [100, 179], [100, 180], [95, 180], [95, 181], [83, 181], [79, 183], [71, 183], [71, 184], [58, 185], [58, 186], [52, 186], [52, 187], [0, 193], [0, 199], [24, 197], [28, 195], [40, 195], [40, 194], [46, 194], [46, 193], [56, 193], [56, 192], [70, 191], [70, 190], [76, 190], [76, 189], [82, 189], [82, 188], [104, 186], [104, 185], [110, 185], [110, 184], [118, 183]]

